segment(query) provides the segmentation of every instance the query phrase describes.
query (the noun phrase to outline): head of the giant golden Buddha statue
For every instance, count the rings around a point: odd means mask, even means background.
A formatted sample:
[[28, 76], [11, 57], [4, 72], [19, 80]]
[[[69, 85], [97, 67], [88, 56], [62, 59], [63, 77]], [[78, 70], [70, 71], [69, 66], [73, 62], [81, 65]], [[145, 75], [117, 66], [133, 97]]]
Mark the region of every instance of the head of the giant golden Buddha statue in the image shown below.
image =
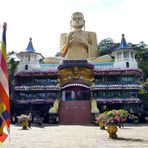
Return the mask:
[[81, 12], [73, 13], [71, 16], [70, 25], [73, 30], [81, 30], [83, 27], [85, 27], [85, 20], [83, 14]]

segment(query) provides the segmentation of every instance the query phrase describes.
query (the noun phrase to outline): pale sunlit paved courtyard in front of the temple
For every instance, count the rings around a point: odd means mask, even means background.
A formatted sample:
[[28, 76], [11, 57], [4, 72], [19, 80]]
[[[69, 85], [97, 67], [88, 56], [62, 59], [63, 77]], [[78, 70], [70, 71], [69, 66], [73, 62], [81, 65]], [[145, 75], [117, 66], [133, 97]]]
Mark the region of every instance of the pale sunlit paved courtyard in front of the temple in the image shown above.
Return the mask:
[[11, 125], [11, 139], [4, 148], [148, 148], [148, 124], [127, 124], [110, 139], [98, 126], [45, 125], [21, 130]]

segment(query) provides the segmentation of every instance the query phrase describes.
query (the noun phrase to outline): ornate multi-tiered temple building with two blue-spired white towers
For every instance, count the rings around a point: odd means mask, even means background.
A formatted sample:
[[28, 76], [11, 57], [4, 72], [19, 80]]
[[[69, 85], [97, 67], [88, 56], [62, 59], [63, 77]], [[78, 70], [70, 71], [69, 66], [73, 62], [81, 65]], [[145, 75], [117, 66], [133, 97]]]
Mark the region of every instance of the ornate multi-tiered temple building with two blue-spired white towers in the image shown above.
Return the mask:
[[123, 36], [112, 53], [114, 62], [65, 59], [39, 64], [42, 55], [30, 39], [26, 51], [17, 54], [21, 61], [14, 77], [12, 111], [40, 114], [61, 124], [88, 124], [93, 114], [106, 109], [136, 111], [142, 71], [135, 55]]

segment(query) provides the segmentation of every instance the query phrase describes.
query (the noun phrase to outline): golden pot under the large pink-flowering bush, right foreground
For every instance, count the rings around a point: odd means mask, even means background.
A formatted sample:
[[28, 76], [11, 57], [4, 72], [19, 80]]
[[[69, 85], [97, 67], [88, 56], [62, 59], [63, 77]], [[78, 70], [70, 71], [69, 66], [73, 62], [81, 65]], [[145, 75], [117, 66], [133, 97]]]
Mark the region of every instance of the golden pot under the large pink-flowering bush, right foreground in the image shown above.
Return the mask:
[[117, 138], [118, 127], [116, 125], [107, 126], [107, 132], [109, 133], [109, 137], [116, 139]]

